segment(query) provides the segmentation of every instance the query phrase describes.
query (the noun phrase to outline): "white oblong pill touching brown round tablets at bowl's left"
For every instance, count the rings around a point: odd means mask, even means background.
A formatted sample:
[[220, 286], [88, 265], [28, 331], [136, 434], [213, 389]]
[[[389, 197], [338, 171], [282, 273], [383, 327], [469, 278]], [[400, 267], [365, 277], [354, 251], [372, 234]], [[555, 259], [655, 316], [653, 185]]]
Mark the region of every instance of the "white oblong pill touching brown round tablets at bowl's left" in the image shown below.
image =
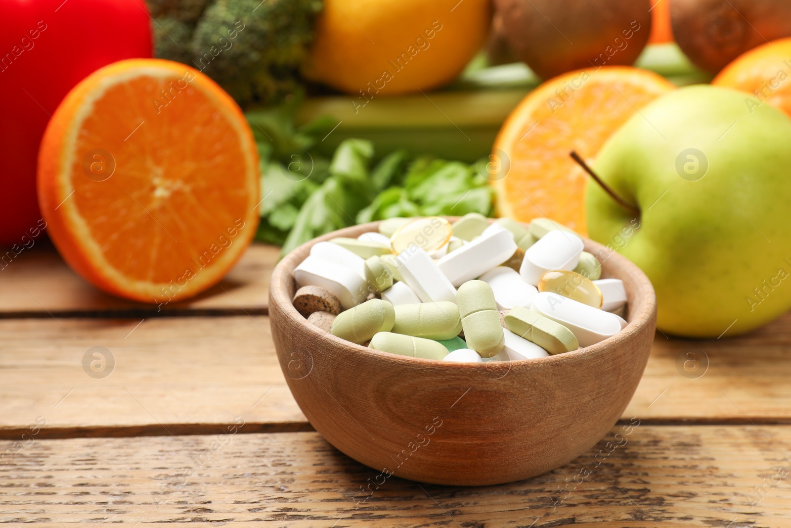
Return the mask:
[[[314, 246], [315, 247], [315, 246]], [[368, 297], [368, 285], [360, 275], [319, 256], [308, 256], [294, 269], [297, 286], [318, 286], [339, 298], [343, 310], [357, 306]]]

